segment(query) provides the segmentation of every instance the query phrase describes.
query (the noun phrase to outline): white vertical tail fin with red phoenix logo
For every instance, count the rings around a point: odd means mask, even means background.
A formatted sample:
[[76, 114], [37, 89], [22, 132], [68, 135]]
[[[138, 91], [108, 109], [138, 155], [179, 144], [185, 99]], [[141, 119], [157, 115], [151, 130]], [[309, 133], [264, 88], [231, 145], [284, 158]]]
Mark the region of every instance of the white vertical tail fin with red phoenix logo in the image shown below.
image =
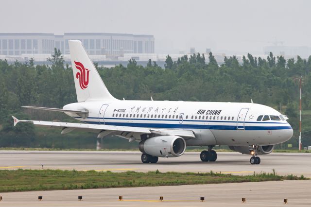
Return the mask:
[[69, 40], [78, 102], [116, 100], [108, 91], [81, 41]]

